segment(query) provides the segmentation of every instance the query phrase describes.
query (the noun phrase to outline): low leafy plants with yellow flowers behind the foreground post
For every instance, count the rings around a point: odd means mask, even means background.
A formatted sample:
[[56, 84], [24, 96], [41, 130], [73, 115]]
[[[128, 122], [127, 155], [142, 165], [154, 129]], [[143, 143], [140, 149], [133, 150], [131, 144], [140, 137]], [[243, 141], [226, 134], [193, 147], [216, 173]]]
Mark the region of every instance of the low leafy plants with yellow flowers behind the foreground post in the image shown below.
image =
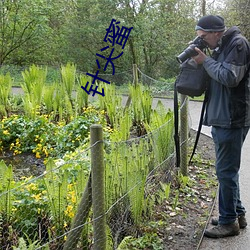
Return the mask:
[[0, 121], [0, 150], [11, 150], [14, 155], [33, 152], [37, 158], [62, 156], [74, 151], [89, 140], [90, 126], [104, 122], [104, 116], [89, 106], [81, 116], [71, 122], [54, 123], [52, 115], [26, 116], [12, 115]]

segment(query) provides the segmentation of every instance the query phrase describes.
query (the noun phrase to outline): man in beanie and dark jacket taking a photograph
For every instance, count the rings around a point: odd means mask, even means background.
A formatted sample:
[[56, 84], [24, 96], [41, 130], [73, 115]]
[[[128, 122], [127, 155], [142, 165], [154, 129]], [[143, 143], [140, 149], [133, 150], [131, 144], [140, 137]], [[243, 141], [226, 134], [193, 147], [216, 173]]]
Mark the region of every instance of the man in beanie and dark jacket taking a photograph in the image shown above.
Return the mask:
[[239, 234], [247, 226], [240, 200], [239, 169], [241, 149], [250, 126], [250, 47], [237, 27], [225, 31], [220, 16], [202, 17], [195, 30], [212, 56], [195, 48], [193, 59], [203, 64], [210, 76], [204, 125], [212, 126], [219, 181], [219, 218], [205, 235], [221, 238]]

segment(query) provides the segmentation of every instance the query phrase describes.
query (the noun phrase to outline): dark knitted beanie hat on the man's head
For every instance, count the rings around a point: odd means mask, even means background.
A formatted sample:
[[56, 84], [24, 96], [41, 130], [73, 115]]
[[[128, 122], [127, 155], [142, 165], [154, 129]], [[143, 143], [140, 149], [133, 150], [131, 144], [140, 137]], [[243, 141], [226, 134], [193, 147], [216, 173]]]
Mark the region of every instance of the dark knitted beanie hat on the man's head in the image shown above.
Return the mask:
[[224, 31], [224, 19], [221, 16], [203, 16], [195, 26], [195, 30], [203, 31]]

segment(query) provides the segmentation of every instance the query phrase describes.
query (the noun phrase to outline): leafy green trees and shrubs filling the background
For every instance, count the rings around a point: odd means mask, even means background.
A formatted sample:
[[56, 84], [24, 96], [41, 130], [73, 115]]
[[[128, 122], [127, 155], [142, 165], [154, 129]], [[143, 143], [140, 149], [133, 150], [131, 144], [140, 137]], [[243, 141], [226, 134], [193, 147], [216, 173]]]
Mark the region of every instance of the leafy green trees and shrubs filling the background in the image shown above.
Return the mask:
[[220, 14], [227, 26], [239, 25], [250, 37], [246, 0], [15, 0], [1, 1], [0, 9], [0, 65], [71, 62], [95, 72], [95, 54], [112, 18], [133, 27], [116, 72], [135, 63], [154, 78], [176, 75], [175, 56], [195, 37], [202, 15]]

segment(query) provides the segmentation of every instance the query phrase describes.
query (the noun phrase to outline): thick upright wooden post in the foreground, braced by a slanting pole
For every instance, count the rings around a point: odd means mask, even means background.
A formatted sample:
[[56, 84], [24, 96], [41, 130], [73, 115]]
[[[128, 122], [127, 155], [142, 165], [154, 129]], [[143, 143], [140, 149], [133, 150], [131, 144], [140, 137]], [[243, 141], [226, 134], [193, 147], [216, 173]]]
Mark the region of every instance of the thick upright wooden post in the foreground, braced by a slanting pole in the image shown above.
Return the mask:
[[103, 130], [99, 124], [90, 127], [91, 176], [94, 250], [106, 249], [105, 183]]

